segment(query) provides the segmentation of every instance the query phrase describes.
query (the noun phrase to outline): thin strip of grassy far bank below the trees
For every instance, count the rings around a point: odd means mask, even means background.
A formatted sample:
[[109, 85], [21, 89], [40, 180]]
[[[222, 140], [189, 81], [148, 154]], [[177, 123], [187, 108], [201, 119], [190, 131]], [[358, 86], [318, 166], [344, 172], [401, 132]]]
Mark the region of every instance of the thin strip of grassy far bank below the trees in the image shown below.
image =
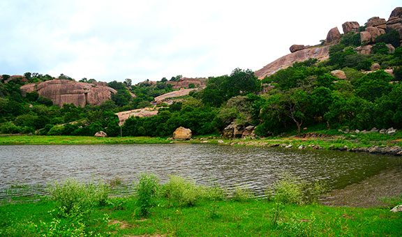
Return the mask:
[[235, 146], [283, 146], [288, 148], [350, 150], [378, 146], [402, 147], [402, 132], [394, 135], [376, 133], [348, 133], [320, 130], [301, 135], [283, 135], [260, 139], [223, 139], [221, 137], [194, 137], [189, 141], [172, 141], [162, 137], [77, 137], [77, 136], [1, 136], [0, 145], [68, 145], [68, 144], [221, 144]]

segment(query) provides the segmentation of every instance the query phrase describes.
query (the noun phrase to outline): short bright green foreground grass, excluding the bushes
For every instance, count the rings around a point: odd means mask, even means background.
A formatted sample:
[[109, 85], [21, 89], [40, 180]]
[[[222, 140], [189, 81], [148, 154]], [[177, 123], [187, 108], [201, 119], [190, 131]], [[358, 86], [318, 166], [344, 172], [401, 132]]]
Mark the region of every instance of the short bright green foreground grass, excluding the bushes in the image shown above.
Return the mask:
[[[150, 216], [135, 215], [136, 199], [127, 197], [122, 210], [112, 206], [92, 211], [87, 231], [112, 236], [401, 236], [402, 214], [382, 208], [348, 208], [285, 204], [271, 224], [274, 202], [200, 201], [195, 206], [169, 206], [158, 199]], [[54, 221], [53, 201], [0, 206], [0, 236], [39, 236]], [[108, 225], [100, 224], [108, 216]], [[42, 232], [43, 233], [43, 232]]]

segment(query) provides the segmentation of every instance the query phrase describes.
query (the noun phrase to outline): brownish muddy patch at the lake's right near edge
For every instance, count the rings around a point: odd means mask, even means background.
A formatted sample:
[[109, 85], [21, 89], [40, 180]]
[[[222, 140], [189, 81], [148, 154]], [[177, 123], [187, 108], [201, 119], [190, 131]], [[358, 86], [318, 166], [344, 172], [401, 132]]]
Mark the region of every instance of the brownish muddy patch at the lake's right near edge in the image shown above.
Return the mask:
[[366, 178], [342, 190], [333, 190], [322, 200], [327, 206], [389, 207], [383, 198], [402, 195], [402, 170], [392, 169]]

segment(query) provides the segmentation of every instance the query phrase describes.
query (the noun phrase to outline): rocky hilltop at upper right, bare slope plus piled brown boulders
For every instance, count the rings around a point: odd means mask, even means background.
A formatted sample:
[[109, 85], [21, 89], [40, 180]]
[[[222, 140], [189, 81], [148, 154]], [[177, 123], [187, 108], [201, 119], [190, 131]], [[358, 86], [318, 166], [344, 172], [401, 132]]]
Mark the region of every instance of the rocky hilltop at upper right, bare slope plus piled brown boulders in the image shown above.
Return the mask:
[[[399, 43], [402, 43], [402, 7], [395, 8], [388, 20], [380, 17], [371, 17], [363, 27], [358, 22], [345, 22], [342, 24], [342, 29], [344, 34], [351, 31], [360, 34], [362, 46], [356, 49], [360, 54], [370, 54], [372, 45], [376, 43], [376, 38], [390, 30], [396, 30], [399, 33]], [[322, 45], [313, 47], [308, 45], [292, 45], [290, 47], [290, 54], [282, 56], [267, 64], [264, 68], [255, 71], [255, 75], [259, 79], [263, 79], [273, 75], [278, 70], [292, 66], [295, 62], [306, 61], [307, 59], [318, 59], [319, 61], [328, 59], [329, 47], [338, 43], [341, 37], [342, 34], [338, 28], [334, 27], [327, 33], [327, 38]], [[387, 47], [392, 52], [394, 47], [392, 45], [387, 45]]]

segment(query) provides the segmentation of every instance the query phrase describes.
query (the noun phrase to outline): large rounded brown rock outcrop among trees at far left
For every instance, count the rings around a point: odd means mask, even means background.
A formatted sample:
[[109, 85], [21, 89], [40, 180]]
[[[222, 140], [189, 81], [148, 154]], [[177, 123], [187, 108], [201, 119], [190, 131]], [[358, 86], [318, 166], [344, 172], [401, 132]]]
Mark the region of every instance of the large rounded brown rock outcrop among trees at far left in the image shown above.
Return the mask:
[[22, 94], [37, 91], [43, 98], [52, 100], [54, 105], [63, 106], [73, 104], [84, 107], [85, 105], [101, 105], [110, 100], [116, 90], [108, 86], [97, 86], [84, 82], [74, 82], [67, 79], [54, 79], [39, 84], [27, 84], [21, 86]]

